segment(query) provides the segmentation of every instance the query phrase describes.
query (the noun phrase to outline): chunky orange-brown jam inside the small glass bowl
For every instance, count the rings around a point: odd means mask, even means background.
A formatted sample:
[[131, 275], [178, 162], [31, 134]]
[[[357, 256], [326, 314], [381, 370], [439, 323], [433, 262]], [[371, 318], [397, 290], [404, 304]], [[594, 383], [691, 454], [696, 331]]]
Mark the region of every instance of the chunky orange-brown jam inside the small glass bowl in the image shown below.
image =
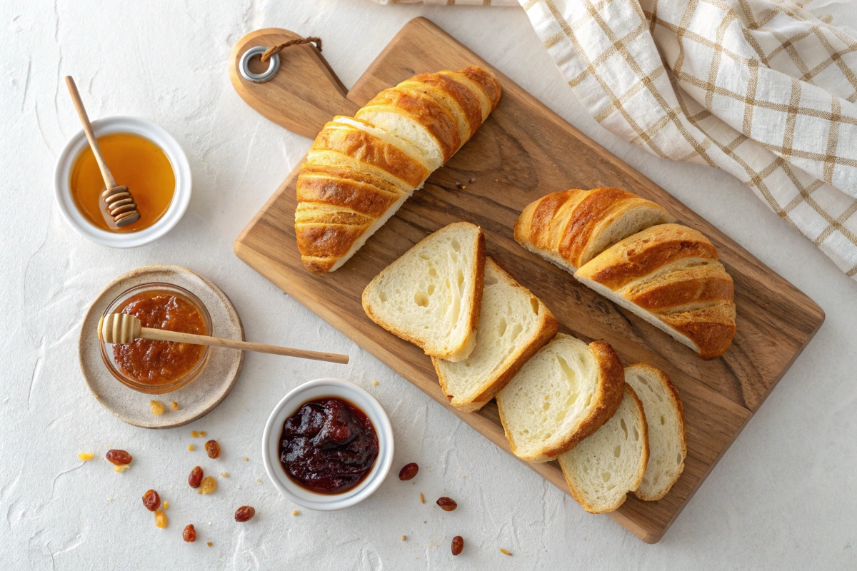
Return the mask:
[[[119, 312], [135, 315], [143, 327], [207, 335], [205, 319], [190, 301], [176, 292], [150, 290], [123, 301]], [[113, 360], [126, 377], [143, 384], [167, 384], [194, 369], [205, 347], [190, 343], [137, 339], [113, 345]]]

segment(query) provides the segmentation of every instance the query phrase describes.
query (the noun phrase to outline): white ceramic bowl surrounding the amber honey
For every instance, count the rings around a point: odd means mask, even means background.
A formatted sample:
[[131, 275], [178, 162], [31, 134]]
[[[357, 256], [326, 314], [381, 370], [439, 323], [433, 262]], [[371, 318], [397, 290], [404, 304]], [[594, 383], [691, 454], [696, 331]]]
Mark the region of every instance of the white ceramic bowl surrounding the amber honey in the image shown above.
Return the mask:
[[[75, 160], [80, 156], [83, 149], [89, 146], [87, 136], [81, 129], [66, 143], [63, 152], [57, 158], [57, 167], [54, 170], [54, 192], [57, 195], [57, 204], [60, 211], [63, 212], [63, 217], [81, 235], [102, 246], [137, 247], [158, 240], [182, 219], [190, 202], [190, 165], [182, 147], [179, 146], [177, 140], [172, 138], [171, 134], [142, 117], [105, 117], [93, 121], [93, 131], [95, 131], [96, 137], [111, 133], [139, 134], [159, 146], [170, 159], [172, 171], [176, 175], [176, 190], [172, 195], [172, 202], [158, 222], [139, 232], [108, 232], [89, 223], [77, 210], [75, 199], [72, 198], [69, 188], [69, 177]], [[121, 181], [119, 183], [121, 184]], [[131, 192], [134, 192], [133, 188], [131, 188]]]

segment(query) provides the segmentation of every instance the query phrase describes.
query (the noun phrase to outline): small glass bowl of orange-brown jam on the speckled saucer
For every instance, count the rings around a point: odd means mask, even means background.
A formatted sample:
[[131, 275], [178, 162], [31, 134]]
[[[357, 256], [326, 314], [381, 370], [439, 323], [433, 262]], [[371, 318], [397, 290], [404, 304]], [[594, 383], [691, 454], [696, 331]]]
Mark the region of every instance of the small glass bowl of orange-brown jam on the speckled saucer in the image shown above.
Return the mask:
[[[119, 294], [105, 309], [131, 313], [143, 327], [211, 335], [211, 316], [202, 302], [185, 288], [171, 283], [144, 283]], [[99, 335], [100, 338], [100, 335]], [[205, 345], [137, 339], [133, 343], [108, 344], [101, 340], [105, 366], [125, 386], [149, 395], [181, 389], [205, 368]]]

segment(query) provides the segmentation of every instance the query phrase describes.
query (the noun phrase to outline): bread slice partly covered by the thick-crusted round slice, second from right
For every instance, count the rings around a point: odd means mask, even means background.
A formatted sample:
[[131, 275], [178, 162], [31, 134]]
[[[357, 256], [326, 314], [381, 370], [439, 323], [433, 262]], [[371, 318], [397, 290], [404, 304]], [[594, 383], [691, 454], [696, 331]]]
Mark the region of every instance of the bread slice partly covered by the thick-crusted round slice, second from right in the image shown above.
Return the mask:
[[649, 434], [641, 403], [630, 385], [619, 409], [605, 425], [560, 456], [572, 496], [590, 514], [619, 508], [643, 480], [649, 461]]

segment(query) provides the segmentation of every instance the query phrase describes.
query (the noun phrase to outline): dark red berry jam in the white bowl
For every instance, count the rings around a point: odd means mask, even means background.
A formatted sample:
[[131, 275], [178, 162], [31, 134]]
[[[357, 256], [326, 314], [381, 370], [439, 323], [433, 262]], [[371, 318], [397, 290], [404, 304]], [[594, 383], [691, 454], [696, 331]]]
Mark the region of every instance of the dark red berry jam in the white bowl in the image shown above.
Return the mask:
[[333, 396], [309, 401], [286, 419], [279, 461], [297, 485], [320, 494], [349, 491], [378, 458], [375, 426], [360, 408]]

